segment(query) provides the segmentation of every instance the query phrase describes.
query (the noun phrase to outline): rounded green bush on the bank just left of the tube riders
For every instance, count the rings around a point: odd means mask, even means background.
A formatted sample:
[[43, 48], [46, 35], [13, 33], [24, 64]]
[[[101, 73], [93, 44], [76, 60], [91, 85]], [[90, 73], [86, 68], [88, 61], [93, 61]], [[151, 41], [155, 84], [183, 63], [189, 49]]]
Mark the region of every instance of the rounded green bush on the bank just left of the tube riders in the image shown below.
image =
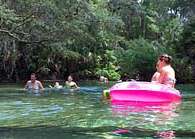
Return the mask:
[[139, 76], [140, 80], [149, 80], [155, 71], [156, 59], [163, 49], [143, 38], [133, 40], [129, 48], [119, 53], [121, 70], [130, 78]]

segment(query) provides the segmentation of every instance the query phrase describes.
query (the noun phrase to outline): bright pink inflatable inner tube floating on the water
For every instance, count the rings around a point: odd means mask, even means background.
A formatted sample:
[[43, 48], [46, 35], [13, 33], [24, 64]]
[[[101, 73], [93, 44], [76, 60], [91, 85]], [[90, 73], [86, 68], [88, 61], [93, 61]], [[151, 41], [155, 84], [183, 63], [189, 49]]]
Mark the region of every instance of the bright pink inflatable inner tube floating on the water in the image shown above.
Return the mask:
[[178, 102], [181, 94], [178, 90], [163, 84], [152, 82], [122, 82], [110, 88], [111, 101], [136, 102]]

